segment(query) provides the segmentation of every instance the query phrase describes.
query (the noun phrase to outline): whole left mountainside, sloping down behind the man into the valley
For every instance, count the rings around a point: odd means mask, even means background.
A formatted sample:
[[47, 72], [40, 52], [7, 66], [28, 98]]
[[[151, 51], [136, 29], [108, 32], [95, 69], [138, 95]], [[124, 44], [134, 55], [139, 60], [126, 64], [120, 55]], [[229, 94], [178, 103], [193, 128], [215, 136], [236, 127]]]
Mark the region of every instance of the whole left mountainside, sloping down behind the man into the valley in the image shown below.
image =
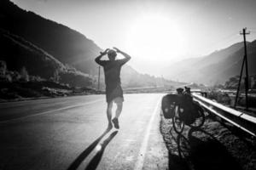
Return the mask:
[[[25, 67], [32, 76], [96, 88], [98, 65], [94, 59], [102, 49], [95, 42], [67, 26], [21, 9], [9, 0], [0, 1], [0, 21], [0, 60], [10, 71]], [[122, 69], [121, 79], [125, 88], [177, 84], [140, 74], [129, 65]]]

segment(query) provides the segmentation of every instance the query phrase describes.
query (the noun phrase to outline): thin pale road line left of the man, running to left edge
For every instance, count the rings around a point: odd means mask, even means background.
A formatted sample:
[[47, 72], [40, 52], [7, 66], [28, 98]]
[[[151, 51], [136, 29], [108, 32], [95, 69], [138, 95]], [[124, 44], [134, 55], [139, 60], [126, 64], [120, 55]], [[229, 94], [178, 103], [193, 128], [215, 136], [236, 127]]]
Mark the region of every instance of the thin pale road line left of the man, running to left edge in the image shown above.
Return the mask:
[[55, 109], [55, 110], [43, 111], [43, 112], [39, 112], [39, 113], [36, 113], [36, 114], [33, 114], [33, 115], [21, 116], [21, 117], [18, 117], [18, 118], [9, 119], [9, 120], [7, 120], [7, 121], [1, 121], [0, 124], [1, 124], [1, 123], [7, 123], [7, 122], [19, 121], [19, 120], [22, 120], [22, 119], [26, 119], [27, 117], [40, 116], [40, 115], [44, 115], [44, 114], [47, 114], [47, 113], [50, 113], [50, 112], [54, 112], [54, 111], [62, 111], [62, 110], [67, 110], [67, 109], [71, 109], [71, 108], [74, 108], [74, 107], [83, 106], [83, 105], [90, 105], [90, 104], [94, 104], [94, 103], [99, 102], [99, 101], [103, 101], [103, 99], [96, 99], [96, 100], [94, 100], [94, 101], [90, 101], [90, 102], [87, 102], [87, 103], [84, 103], [84, 104], [70, 105], [70, 106], [61, 107], [61, 108]]

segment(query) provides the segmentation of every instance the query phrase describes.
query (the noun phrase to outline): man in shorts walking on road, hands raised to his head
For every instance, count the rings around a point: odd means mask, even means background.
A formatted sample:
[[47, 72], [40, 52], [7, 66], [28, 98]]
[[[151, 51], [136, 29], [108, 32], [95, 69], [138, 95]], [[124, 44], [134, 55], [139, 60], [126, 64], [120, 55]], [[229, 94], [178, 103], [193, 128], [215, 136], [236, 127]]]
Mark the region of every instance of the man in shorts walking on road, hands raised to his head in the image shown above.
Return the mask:
[[[125, 54], [120, 51], [118, 48], [106, 49], [102, 52], [98, 57], [96, 57], [95, 61], [98, 65], [102, 65], [104, 68], [105, 74], [105, 84], [106, 84], [106, 98], [108, 103], [107, 108], [107, 116], [108, 116], [108, 128], [119, 128], [119, 116], [121, 114], [124, 102], [123, 89], [121, 88], [120, 81], [120, 71], [122, 65], [125, 65], [127, 61], [131, 59], [131, 56]], [[123, 54], [125, 59], [115, 59], [117, 53]], [[108, 60], [102, 60], [102, 57], [108, 54]], [[115, 116], [112, 119], [112, 107], [113, 103], [117, 105], [117, 109], [115, 111]], [[113, 125], [112, 125], [112, 122]]]

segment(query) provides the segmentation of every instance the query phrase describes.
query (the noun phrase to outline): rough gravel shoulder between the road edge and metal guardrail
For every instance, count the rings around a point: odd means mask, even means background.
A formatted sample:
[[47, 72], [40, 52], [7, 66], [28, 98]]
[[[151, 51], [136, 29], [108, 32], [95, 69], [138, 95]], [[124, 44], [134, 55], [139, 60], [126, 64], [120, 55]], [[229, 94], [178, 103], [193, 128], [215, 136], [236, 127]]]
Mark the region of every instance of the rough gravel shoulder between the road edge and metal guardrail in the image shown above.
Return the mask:
[[256, 169], [256, 140], [218, 117], [201, 128], [185, 126], [181, 135], [161, 116], [160, 132], [169, 150], [169, 169]]

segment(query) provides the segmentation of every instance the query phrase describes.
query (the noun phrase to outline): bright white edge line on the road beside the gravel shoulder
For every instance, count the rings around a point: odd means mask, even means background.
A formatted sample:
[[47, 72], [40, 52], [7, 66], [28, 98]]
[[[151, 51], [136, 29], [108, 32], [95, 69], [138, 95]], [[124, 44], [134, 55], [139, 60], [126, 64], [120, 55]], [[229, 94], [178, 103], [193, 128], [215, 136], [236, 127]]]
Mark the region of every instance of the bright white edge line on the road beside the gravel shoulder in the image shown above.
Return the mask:
[[151, 128], [152, 128], [152, 125], [153, 125], [153, 122], [154, 122], [154, 117], [156, 116], [156, 114], [158, 113], [159, 108], [160, 108], [159, 105], [160, 105], [160, 99], [159, 99], [159, 101], [157, 102], [157, 105], [154, 108], [154, 112], [153, 112], [152, 116], [150, 117], [150, 121], [149, 121], [148, 127], [146, 129], [146, 134], [144, 136], [143, 144], [140, 148], [139, 155], [137, 157], [137, 161], [135, 163], [134, 170], [142, 170], [143, 169], [145, 154], [146, 154], [146, 151], [147, 151], [147, 148], [148, 148], [148, 139], [149, 139], [150, 131], [151, 131]]

